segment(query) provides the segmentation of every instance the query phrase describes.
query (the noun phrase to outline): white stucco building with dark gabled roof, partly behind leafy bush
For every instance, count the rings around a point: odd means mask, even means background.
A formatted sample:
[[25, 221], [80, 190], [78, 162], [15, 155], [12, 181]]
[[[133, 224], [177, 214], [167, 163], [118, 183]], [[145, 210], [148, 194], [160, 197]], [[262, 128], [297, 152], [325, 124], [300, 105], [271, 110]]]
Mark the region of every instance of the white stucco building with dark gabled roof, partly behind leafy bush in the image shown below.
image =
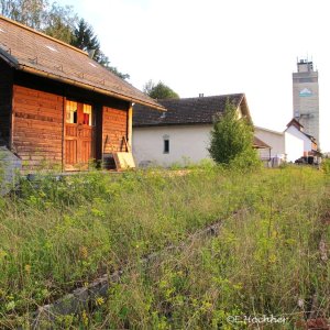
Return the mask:
[[[167, 109], [163, 113], [135, 106], [132, 145], [136, 165], [185, 165], [209, 158], [213, 119], [224, 111], [227, 101], [237, 107], [239, 118], [252, 122], [244, 94], [158, 100]], [[255, 145], [267, 147], [262, 141]]]

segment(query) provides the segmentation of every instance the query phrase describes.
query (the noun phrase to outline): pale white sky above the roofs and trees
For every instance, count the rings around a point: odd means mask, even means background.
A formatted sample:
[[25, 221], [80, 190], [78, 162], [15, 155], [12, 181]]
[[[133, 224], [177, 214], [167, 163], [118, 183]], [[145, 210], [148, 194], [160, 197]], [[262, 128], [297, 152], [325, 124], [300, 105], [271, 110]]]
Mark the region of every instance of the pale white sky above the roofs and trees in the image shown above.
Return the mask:
[[330, 31], [326, 0], [59, 0], [99, 36], [111, 64], [142, 89], [162, 80], [180, 97], [245, 92], [255, 124], [293, 116], [297, 56], [319, 70], [321, 148], [330, 151]]

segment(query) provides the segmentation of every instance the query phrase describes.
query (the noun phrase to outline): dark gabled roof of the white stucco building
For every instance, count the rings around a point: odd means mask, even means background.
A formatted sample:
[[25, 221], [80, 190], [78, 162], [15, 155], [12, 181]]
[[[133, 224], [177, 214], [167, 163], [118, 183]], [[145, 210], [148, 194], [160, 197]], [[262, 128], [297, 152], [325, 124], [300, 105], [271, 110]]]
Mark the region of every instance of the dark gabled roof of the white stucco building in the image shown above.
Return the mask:
[[251, 122], [251, 116], [244, 94], [198, 97], [187, 99], [157, 100], [166, 112], [160, 113], [142, 106], [134, 106], [133, 127], [160, 127], [182, 124], [211, 124], [215, 114], [222, 113], [226, 102], [241, 107], [243, 116]]

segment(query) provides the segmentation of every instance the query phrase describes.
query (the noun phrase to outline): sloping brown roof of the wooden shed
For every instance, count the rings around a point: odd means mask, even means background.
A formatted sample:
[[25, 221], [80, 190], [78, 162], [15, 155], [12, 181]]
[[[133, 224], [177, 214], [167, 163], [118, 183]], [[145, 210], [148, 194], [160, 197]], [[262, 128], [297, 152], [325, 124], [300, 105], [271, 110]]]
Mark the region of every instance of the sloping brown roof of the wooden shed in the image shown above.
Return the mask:
[[18, 70], [165, 110], [88, 53], [0, 15], [0, 58]]

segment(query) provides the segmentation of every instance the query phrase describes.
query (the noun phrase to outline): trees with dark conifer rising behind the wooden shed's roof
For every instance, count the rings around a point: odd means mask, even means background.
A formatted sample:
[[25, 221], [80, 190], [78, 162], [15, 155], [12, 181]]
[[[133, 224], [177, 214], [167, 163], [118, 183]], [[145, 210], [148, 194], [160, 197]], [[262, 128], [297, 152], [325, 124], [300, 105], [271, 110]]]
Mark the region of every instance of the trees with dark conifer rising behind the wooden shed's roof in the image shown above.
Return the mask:
[[108, 70], [122, 79], [130, 77], [110, 65], [92, 26], [72, 6], [47, 0], [0, 0], [0, 13], [80, 50], [91, 51], [92, 58]]

